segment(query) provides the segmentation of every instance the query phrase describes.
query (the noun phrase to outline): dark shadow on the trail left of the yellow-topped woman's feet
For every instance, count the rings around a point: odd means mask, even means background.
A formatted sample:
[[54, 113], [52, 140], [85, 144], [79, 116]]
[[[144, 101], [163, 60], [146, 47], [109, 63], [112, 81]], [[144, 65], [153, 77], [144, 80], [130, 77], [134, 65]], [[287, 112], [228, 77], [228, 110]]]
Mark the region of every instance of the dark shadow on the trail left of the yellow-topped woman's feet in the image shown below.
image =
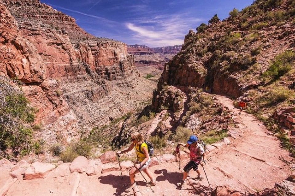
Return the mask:
[[116, 193], [114, 195], [116, 196], [128, 196], [128, 195], [134, 195], [133, 192], [131, 191], [130, 193], [126, 193], [125, 189], [129, 185], [129, 176], [123, 175], [122, 176], [116, 176], [116, 175], [106, 175], [106, 176], [100, 176], [97, 178], [100, 183], [102, 184], [109, 184], [112, 185], [114, 188], [116, 188]]

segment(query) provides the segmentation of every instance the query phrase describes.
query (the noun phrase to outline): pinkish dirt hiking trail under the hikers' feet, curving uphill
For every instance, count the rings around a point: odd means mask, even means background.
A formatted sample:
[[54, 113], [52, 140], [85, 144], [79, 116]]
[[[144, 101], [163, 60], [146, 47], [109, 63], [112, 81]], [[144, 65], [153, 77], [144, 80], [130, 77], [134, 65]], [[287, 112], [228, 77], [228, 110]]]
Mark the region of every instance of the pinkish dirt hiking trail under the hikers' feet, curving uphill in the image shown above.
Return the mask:
[[[97, 196], [97, 195], [143, 195], [143, 196], [171, 196], [171, 195], [210, 195], [216, 186], [228, 185], [244, 194], [254, 193], [264, 188], [272, 188], [275, 182], [281, 182], [291, 174], [290, 166], [281, 159], [291, 160], [289, 152], [282, 149], [280, 141], [269, 136], [268, 130], [254, 116], [242, 112], [238, 115], [238, 109], [234, 108], [233, 101], [225, 96], [216, 95], [226, 107], [234, 112], [236, 126], [229, 128], [228, 139], [230, 143], [217, 143], [215, 148], [207, 156], [208, 161], [204, 166], [208, 181], [201, 166], [204, 179], [195, 181], [197, 173], [190, 171], [187, 181], [181, 189], [176, 186], [182, 179], [183, 167], [189, 159], [179, 163], [164, 163], [151, 167], [157, 184], [150, 187], [141, 174], [136, 174], [137, 191], [134, 194], [125, 193], [129, 183], [128, 171], [111, 171], [104, 174], [87, 176], [84, 173], [71, 173], [67, 176], [56, 177], [54, 172], [49, 173], [44, 179], [16, 181], [8, 190], [6, 196]], [[159, 116], [155, 116], [159, 118]], [[234, 138], [235, 139], [234, 139]], [[172, 153], [174, 149], [171, 150]], [[181, 148], [180, 150], [183, 150]], [[8, 176], [7, 170], [1, 169], [3, 177]], [[144, 173], [143, 173], [144, 174]], [[144, 174], [145, 178], [149, 178]], [[7, 177], [8, 178], [8, 177]]]

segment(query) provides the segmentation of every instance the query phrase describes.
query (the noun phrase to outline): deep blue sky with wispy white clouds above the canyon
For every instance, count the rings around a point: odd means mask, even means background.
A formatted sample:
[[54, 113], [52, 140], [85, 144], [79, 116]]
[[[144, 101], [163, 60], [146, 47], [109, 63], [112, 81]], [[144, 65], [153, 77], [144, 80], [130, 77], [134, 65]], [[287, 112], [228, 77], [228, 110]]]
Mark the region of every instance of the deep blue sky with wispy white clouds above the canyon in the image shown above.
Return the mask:
[[182, 45], [190, 29], [228, 17], [253, 0], [40, 0], [96, 37], [150, 47]]

